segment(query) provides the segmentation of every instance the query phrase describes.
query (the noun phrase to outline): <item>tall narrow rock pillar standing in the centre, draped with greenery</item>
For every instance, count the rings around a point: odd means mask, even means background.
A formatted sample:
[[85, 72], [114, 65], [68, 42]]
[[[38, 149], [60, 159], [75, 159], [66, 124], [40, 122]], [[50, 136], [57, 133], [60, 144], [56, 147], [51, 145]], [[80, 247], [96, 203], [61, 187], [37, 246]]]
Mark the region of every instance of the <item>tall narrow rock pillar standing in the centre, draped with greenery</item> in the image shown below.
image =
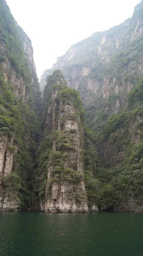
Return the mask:
[[[41, 210], [88, 212], [82, 103], [77, 91], [65, 85], [59, 70], [48, 76], [44, 106], [38, 157]], [[90, 208], [98, 211], [95, 202]]]

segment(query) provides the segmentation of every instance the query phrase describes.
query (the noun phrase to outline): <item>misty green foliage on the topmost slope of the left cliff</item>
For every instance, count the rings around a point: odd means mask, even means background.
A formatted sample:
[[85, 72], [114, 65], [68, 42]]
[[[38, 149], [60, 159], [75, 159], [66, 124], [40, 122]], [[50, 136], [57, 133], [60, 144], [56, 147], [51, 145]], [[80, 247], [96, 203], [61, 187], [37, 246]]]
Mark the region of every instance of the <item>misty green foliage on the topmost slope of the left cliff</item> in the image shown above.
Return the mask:
[[6, 45], [12, 66], [26, 79], [27, 63], [23, 49], [22, 29], [16, 24], [5, 0], [0, 0], [0, 40]]

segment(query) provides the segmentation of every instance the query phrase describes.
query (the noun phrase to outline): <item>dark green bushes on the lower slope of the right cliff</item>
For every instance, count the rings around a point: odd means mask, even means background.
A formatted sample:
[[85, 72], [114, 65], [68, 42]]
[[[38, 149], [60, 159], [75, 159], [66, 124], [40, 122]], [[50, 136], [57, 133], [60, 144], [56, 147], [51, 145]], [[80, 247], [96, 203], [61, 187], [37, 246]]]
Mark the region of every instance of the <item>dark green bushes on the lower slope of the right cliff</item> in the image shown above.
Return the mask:
[[104, 118], [99, 141], [108, 143], [109, 154], [114, 156], [110, 162], [101, 157], [97, 171], [103, 192], [99, 201], [101, 209], [118, 208], [123, 198], [128, 198], [129, 194], [134, 195], [138, 205], [142, 205], [143, 80], [128, 94], [126, 108]]

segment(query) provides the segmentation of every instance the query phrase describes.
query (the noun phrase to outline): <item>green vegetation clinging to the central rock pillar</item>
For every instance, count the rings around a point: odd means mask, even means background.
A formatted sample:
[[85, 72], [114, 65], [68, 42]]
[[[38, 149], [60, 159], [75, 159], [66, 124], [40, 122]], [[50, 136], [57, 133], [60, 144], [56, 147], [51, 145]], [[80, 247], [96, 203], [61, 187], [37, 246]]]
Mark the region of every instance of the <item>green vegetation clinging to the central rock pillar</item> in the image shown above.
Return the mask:
[[[38, 168], [36, 170], [34, 196], [35, 199], [39, 196], [41, 200], [44, 200], [49, 168], [51, 179], [48, 181], [50, 182], [48, 189], [50, 189], [51, 184], [54, 182], [64, 183], [64, 181], [69, 181], [74, 186], [80, 182], [82, 172], [77, 171], [78, 163], [74, 158], [73, 162], [68, 163], [70, 151], [74, 152], [75, 155], [80, 153], [78, 150], [81, 149], [76, 148], [75, 145], [75, 136], [78, 136], [77, 140], [81, 140], [81, 148], [84, 148], [83, 153], [80, 154], [82, 154], [81, 162], [83, 167], [85, 167], [84, 182], [87, 198], [89, 205], [92, 205], [97, 203], [100, 197], [99, 182], [95, 179], [97, 160], [94, 138], [92, 132], [86, 127], [84, 127], [85, 136], [82, 135], [82, 125], [85, 118], [81, 98], [75, 89], [67, 87], [64, 83], [64, 77], [59, 70], [55, 70], [52, 75], [48, 76], [43, 100], [44, 114], [42, 127], [44, 131], [36, 155]], [[66, 108], [71, 108], [71, 111], [66, 112]], [[63, 114], [61, 115], [60, 113]], [[54, 121], [53, 115], [55, 115]], [[71, 126], [68, 130], [64, 129], [67, 120], [73, 122], [73, 125], [76, 122], [78, 130], [74, 126], [73, 128]], [[72, 155], [73, 153], [71, 157]], [[74, 195], [76, 201], [80, 202], [80, 195], [77, 192], [74, 192]]]

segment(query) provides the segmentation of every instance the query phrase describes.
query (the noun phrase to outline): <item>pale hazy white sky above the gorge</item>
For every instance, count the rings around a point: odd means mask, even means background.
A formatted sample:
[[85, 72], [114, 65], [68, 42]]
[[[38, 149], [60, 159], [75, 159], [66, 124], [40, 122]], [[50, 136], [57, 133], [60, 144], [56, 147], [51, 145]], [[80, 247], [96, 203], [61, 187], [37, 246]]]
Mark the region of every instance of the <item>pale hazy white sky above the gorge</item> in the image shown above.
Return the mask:
[[37, 75], [72, 44], [132, 17], [140, 0], [6, 0], [31, 38]]

